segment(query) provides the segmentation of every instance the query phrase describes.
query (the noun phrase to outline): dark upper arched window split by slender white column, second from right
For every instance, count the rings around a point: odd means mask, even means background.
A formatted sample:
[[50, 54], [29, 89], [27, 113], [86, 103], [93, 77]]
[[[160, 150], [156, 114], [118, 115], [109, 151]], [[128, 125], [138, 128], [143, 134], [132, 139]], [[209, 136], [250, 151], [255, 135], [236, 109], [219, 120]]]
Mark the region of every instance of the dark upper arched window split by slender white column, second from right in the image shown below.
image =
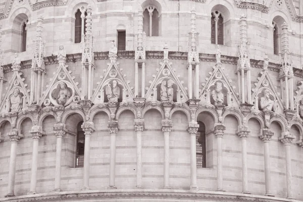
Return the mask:
[[[216, 29], [217, 28], [217, 29]], [[212, 12], [211, 18], [211, 42], [214, 44], [224, 44], [224, 24], [223, 17], [219, 11]]]

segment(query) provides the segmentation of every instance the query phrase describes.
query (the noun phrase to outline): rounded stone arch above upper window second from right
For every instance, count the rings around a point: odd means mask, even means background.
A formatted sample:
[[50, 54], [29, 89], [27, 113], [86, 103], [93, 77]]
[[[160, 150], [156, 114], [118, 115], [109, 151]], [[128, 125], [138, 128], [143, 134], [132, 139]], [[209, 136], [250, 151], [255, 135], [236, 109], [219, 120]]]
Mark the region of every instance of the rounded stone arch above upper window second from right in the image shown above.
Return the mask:
[[226, 0], [213, 0], [209, 3], [207, 15], [211, 16], [214, 10], [221, 12], [224, 22], [235, 18], [233, 6]]

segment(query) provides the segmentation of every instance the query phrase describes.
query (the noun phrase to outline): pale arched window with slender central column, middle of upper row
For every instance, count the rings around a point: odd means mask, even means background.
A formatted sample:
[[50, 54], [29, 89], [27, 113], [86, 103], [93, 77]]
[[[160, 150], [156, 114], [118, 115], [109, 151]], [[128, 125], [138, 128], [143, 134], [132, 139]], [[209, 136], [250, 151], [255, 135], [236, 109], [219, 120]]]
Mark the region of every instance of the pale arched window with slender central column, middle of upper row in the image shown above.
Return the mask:
[[159, 12], [148, 6], [143, 12], [143, 31], [146, 36], [159, 36]]

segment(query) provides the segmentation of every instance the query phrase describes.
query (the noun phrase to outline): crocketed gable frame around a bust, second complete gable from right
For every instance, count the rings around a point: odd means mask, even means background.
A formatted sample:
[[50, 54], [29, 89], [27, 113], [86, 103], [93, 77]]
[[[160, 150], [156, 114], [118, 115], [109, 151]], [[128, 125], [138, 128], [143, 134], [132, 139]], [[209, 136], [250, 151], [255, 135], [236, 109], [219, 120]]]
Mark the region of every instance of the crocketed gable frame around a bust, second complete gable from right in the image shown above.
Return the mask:
[[[209, 103], [211, 104], [211, 88], [216, 85], [217, 82], [222, 83], [222, 87], [227, 90], [224, 93], [224, 104], [227, 106], [240, 106], [239, 97], [235, 91], [235, 86], [231, 84], [231, 79], [229, 79], [227, 74], [224, 72], [224, 68], [221, 63], [217, 63], [213, 67], [214, 71], [210, 72], [210, 77], [207, 77], [206, 83], [203, 83], [203, 88], [199, 94], [200, 103]], [[223, 91], [223, 89], [222, 89]]]

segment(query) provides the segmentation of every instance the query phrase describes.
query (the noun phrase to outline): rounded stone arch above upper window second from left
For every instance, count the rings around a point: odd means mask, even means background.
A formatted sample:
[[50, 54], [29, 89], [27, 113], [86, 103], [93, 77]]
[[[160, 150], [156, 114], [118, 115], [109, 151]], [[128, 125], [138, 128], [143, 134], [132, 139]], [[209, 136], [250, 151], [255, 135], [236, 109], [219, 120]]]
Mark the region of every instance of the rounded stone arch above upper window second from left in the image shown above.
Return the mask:
[[67, 9], [65, 10], [65, 16], [75, 18], [77, 10], [81, 7], [87, 7], [88, 5], [91, 6], [93, 12], [97, 12], [96, 9], [98, 7], [96, 5], [95, 0], [86, 0], [85, 2], [83, 2], [83, 0], [74, 0], [69, 2], [69, 4], [67, 5]]

